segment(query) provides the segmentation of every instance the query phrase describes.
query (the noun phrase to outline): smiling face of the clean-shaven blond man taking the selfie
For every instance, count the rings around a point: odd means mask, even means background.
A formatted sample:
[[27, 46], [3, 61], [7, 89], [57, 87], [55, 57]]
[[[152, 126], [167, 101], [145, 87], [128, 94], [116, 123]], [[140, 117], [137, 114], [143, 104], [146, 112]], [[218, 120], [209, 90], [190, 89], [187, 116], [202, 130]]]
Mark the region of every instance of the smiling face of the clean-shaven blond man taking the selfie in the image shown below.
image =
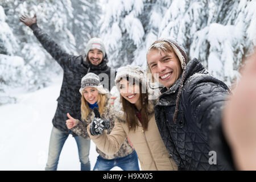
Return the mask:
[[147, 53], [147, 63], [152, 75], [169, 89], [180, 77], [182, 69], [174, 51], [163, 52], [153, 49]]

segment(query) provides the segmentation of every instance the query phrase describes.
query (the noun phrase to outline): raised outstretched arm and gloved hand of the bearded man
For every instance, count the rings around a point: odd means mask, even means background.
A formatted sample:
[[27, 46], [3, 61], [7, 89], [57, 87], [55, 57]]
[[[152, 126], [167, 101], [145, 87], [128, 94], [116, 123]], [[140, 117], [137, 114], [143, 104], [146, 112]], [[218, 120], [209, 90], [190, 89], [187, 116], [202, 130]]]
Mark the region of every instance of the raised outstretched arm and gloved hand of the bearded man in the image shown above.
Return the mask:
[[46, 51], [60, 64], [61, 67], [64, 67], [64, 65], [68, 63], [72, 55], [63, 51], [58, 44], [56, 44], [45, 32], [43, 32], [41, 28], [38, 27], [36, 23], [36, 14], [33, 18], [23, 15], [19, 20], [33, 30], [34, 35], [38, 38], [44, 49], [46, 49]]

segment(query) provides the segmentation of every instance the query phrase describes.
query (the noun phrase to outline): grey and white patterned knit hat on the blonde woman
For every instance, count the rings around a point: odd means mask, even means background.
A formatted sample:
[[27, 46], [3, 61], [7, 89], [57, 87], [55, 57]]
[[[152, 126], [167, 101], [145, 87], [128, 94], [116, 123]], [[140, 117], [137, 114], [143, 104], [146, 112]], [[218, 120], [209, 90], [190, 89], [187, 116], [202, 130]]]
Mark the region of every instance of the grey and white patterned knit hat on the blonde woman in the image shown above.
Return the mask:
[[81, 80], [81, 88], [79, 89], [79, 92], [82, 95], [82, 90], [84, 90], [87, 87], [94, 87], [100, 92], [101, 94], [108, 93], [108, 90], [104, 89], [103, 85], [100, 83], [100, 77], [94, 73], [87, 73], [84, 77], [82, 77]]

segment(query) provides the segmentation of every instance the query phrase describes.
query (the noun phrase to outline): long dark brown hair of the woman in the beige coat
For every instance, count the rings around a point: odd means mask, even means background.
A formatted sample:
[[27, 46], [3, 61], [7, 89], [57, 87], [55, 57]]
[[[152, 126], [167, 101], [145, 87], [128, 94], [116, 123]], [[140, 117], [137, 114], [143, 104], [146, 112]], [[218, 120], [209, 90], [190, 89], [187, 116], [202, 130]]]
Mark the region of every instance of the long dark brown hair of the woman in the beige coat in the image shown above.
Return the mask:
[[[121, 79], [122, 80], [122, 79]], [[120, 81], [121, 81], [120, 80]], [[127, 81], [129, 79], [127, 78]], [[135, 82], [136, 83], [136, 82]], [[148, 93], [142, 93], [142, 84], [141, 81], [139, 82], [139, 101], [141, 102], [141, 125], [143, 130], [147, 130], [148, 127]], [[129, 126], [129, 131], [136, 129], [137, 126], [139, 126], [139, 121], [136, 116], [136, 106], [134, 104], [131, 104], [131, 102], [127, 101], [125, 98], [123, 98], [120, 94], [120, 100], [122, 102], [123, 111], [125, 111], [126, 114], [126, 122]]]

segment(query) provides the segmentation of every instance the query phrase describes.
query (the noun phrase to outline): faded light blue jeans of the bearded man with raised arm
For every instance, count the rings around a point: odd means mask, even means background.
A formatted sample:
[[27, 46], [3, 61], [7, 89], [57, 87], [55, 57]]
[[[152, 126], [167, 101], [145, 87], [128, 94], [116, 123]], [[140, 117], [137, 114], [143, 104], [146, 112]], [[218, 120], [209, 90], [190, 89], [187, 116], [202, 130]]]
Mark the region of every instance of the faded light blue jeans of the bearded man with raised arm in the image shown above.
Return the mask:
[[[60, 152], [64, 146], [66, 139], [68, 138], [67, 133], [63, 133], [52, 127], [51, 138], [49, 142], [49, 153], [46, 164], [46, 171], [56, 171], [57, 165], [60, 158]], [[90, 150], [90, 139], [85, 139], [80, 136], [74, 137], [76, 140], [77, 148], [79, 151], [79, 159], [81, 163], [81, 171], [90, 171], [89, 161], [89, 150]]]

